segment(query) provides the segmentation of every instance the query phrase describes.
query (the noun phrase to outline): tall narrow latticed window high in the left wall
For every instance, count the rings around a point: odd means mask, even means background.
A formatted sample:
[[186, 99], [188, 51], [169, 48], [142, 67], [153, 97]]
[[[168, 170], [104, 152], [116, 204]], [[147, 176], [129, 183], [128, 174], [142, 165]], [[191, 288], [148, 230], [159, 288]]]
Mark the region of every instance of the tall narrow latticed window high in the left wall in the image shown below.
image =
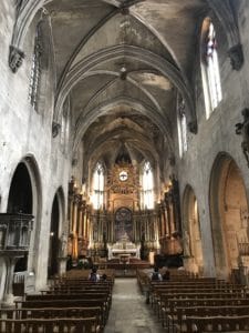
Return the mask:
[[40, 44], [40, 27], [37, 27], [34, 50], [32, 54], [32, 67], [30, 75], [29, 101], [34, 110], [38, 111], [38, 94], [41, 74], [41, 44]]

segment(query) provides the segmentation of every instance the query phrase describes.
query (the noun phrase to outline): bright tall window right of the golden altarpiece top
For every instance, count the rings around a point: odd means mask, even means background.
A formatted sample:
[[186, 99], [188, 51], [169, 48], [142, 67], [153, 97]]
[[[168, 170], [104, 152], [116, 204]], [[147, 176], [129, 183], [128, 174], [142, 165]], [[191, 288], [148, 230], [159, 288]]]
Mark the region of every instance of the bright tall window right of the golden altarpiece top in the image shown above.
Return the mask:
[[154, 209], [154, 182], [149, 162], [145, 162], [143, 168], [142, 188], [142, 206], [144, 206], [144, 209]]

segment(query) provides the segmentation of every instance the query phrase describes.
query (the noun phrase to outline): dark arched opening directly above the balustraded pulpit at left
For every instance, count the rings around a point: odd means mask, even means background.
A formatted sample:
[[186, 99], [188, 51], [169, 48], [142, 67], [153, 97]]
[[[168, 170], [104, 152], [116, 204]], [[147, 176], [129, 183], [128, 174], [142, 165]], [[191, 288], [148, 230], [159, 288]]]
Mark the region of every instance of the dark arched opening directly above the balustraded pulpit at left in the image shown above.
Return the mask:
[[24, 163], [18, 164], [9, 193], [8, 213], [32, 214], [32, 185]]

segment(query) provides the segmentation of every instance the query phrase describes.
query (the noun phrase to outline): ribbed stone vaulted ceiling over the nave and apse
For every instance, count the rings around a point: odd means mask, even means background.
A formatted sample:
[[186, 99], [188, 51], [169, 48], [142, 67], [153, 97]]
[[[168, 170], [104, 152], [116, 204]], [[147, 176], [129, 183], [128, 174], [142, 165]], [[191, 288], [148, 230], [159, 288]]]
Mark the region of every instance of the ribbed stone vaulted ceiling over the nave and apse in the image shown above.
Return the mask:
[[[191, 84], [205, 0], [53, 0], [55, 117], [71, 100], [74, 150], [113, 163], [174, 154], [176, 100], [195, 120]], [[163, 164], [160, 164], [164, 168]]]

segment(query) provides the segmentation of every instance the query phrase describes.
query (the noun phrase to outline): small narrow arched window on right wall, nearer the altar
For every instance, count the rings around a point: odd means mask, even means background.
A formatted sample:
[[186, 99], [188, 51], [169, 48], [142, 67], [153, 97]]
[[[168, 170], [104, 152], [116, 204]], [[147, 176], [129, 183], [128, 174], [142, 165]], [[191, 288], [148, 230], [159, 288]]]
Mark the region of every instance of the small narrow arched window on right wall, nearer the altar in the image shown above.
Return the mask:
[[178, 128], [179, 155], [181, 158], [184, 152], [186, 152], [188, 149], [187, 120], [186, 120], [184, 101], [180, 101], [178, 104], [177, 128]]

